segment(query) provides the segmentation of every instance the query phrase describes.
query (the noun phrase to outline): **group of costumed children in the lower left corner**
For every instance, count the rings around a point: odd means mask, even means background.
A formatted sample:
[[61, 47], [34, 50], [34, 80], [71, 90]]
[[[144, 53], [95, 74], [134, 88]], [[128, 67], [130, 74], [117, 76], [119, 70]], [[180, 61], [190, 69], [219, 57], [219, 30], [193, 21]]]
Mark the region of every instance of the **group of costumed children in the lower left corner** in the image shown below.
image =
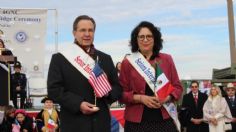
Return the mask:
[[3, 116], [0, 120], [0, 132], [59, 132], [60, 112], [54, 108], [53, 100], [42, 99], [43, 109], [36, 117], [27, 114], [25, 109], [13, 106], [2, 107]]

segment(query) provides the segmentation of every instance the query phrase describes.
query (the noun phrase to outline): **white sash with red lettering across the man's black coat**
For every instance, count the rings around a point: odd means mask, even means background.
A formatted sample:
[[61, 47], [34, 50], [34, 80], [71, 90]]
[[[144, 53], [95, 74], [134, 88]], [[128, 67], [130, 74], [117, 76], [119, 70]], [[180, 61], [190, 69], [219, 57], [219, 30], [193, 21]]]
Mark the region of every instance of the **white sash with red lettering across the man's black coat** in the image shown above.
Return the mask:
[[85, 53], [78, 45], [70, 44], [66, 45], [59, 52], [87, 79], [89, 79], [92, 72], [95, 61]]

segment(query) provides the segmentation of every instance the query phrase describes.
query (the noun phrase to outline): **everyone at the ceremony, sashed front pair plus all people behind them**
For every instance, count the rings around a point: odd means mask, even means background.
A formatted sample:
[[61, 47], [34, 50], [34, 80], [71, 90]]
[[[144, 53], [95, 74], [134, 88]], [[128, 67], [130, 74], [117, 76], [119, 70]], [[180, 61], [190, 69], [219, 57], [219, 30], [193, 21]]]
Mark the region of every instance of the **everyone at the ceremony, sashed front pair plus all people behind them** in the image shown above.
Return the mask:
[[[48, 97], [42, 100], [44, 108], [35, 120], [23, 109], [27, 80], [20, 73], [20, 62], [15, 63], [11, 76], [14, 107], [4, 108], [0, 131], [110, 132], [109, 106], [116, 101], [125, 106], [125, 132], [236, 131], [233, 83], [227, 85], [227, 96], [222, 97], [218, 86], [212, 85], [207, 95], [199, 91], [198, 81], [192, 81], [191, 92], [183, 96], [177, 111], [175, 102], [181, 98], [183, 87], [171, 55], [161, 52], [159, 27], [140, 22], [130, 35], [131, 54], [116, 67], [110, 55], [96, 49], [95, 29], [92, 17], [75, 19], [74, 42], [52, 55]], [[60, 112], [54, 109], [54, 102], [60, 105]]]

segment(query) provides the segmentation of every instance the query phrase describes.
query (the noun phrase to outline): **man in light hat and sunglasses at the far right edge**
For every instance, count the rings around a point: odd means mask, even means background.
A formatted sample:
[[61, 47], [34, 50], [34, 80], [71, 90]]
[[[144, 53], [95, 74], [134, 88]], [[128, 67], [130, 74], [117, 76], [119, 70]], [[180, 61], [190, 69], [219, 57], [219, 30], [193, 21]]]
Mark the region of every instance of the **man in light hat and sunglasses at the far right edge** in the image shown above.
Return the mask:
[[236, 92], [236, 86], [234, 86], [233, 83], [228, 83], [227, 87], [225, 87], [225, 91], [227, 96], [225, 97], [230, 112], [232, 114], [232, 130], [231, 131], [227, 131], [227, 132], [236, 132], [236, 99], [235, 99], [235, 92]]

